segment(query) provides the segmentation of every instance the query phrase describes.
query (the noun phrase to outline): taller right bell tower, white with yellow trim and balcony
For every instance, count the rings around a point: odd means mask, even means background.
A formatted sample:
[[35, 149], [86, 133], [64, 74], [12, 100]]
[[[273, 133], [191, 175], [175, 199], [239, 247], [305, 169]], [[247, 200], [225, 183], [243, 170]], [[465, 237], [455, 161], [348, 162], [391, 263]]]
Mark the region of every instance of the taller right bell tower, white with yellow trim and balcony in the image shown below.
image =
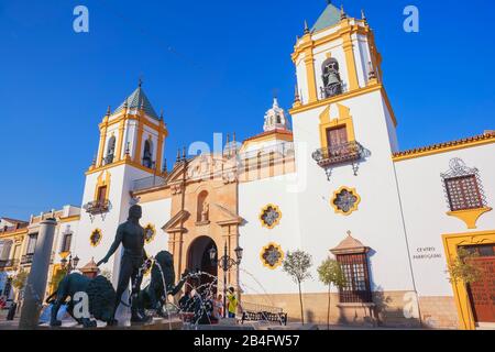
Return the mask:
[[[365, 258], [373, 287], [414, 290], [400, 200], [391, 187], [396, 185], [397, 120], [364, 12], [352, 18], [328, 1], [312, 26], [305, 23], [292, 59], [297, 82], [289, 112], [302, 249], [321, 262], [351, 231], [375, 253]], [[380, 263], [394, 267], [394, 280], [374, 270]], [[306, 289], [319, 288], [308, 283]]]

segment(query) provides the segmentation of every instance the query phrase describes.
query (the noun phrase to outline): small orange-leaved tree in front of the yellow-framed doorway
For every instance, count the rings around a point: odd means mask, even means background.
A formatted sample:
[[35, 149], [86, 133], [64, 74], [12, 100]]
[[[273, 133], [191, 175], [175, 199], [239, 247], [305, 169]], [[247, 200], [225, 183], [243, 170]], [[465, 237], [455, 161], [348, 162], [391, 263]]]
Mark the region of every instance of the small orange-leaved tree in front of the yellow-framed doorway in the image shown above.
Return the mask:
[[[473, 263], [473, 258], [479, 257], [476, 252], [468, 251], [466, 249], [460, 248], [458, 250], [458, 256], [449, 263], [449, 282], [451, 284], [461, 283], [464, 285], [466, 297], [466, 309], [470, 312], [470, 299], [469, 299], [469, 285], [480, 280], [483, 275], [483, 271]], [[471, 312], [469, 316], [469, 326], [471, 326]], [[465, 324], [465, 321], [464, 321]]]

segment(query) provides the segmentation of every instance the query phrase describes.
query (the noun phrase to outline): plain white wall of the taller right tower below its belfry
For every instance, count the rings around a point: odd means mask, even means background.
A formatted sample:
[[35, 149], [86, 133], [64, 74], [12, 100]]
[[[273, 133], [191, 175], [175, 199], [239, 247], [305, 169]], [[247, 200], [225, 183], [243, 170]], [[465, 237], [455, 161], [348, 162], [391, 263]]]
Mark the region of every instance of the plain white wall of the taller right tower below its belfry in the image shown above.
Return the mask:
[[[306, 292], [323, 292], [316, 267], [330, 250], [345, 239], [346, 232], [372, 249], [370, 267], [372, 289], [413, 290], [404, 224], [392, 162], [392, 146], [385, 107], [380, 91], [340, 102], [350, 108], [355, 138], [371, 152], [360, 165], [358, 176], [351, 165], [333, 168], [330, 182], [311, 158], [320, 148], [319, 116], [327, 108], [305, 111], [293, 117], [296, 169], [306, 173], [305, 189], [298, 194], [302, 249], [314, 257], [314, 279]], [[330, 118], [336, 117], [332, 107]], [[361, 196], [359, 210], [345, 217], [334, 212], [330, 201], [341, 186], [355, 188]]]

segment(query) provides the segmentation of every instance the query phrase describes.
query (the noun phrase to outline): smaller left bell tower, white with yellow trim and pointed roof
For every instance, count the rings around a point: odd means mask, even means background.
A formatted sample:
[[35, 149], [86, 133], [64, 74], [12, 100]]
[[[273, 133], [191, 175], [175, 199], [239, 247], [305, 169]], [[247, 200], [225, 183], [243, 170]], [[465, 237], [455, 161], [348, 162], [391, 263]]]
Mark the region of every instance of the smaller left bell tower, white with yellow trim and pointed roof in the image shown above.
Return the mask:
[[[99, 123], [99, 145], [86, 172], [82, 212], [76, 251], [81, 262], [102, 258], [116, 237], [117, 228], [128, 219], [136, 199], [130, 193], [136, 180], [161, 176], [168, 135], [163, 113], [154, 110], [142, 82], [114, 110], [108, 109]], [[112, 262], [113, 261], [113, 262]], [[118, 277], [120, 256], [106, 267]]]

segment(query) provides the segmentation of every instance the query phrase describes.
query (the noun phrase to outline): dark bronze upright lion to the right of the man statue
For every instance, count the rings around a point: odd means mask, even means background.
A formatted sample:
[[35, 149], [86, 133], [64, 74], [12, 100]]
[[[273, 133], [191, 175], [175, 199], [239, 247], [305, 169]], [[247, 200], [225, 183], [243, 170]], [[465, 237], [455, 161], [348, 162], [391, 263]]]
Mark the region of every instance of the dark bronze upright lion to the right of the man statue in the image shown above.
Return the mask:
[[177, 285], [174, 285], [174, 257], [167, 251], [162, 251], [156, 254], [151, 270], [150, 285], [140, 292], [136, 300], [136, 306], [139, 307], [141, 314], [144, 314], [144, 309], [153, 309], [156, 310], [158, 316], [164, 317], [163, 307], [166, 304], [167, 295], [177, 295], [186, 283], [187, 275], [188, 272], [186, 271], [183, 274], [180, 282]]

